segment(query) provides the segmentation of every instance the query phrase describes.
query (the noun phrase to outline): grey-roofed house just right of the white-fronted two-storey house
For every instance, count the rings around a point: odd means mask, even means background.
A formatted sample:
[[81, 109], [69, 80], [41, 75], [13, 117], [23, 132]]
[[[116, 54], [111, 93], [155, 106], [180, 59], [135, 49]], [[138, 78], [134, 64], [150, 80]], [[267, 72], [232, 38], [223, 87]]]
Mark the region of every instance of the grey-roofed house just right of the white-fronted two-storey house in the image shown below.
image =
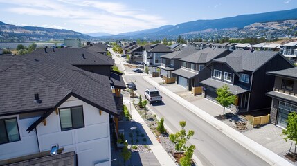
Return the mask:
[[[172, 71], [181, 68], [181, 61], [179, 59], [196, 53], [198, 50], [195, 47], [183, 47], [181, 50], [174, 51], [161, 56], [161, 65], [157, 66], [161, 69], [161, 77], [172, 77]], [[175, 82], [175, 80], [174, 80]]]

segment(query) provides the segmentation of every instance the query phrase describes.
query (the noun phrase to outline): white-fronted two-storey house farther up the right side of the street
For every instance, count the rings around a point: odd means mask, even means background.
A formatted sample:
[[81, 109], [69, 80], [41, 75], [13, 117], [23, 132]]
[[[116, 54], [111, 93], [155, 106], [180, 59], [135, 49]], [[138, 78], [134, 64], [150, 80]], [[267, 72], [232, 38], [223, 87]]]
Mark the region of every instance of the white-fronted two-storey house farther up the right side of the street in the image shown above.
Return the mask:
[[147, 44], [143, 50], [143, 64], [149, 68], [149, 73], [156, 72], [156, 66], [161, 64], [161, 56], [172, 53], [164, 44]]

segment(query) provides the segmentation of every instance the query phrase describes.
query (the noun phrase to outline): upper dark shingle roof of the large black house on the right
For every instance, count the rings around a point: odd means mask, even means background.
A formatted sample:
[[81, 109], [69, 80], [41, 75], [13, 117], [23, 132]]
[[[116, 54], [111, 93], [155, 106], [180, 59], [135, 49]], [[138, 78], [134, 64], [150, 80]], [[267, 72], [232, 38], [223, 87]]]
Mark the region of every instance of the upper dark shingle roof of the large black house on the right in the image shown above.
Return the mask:
[[276, 55], [278, 55], [278, 52], [273, 51], [234, 50], [233, 53], [226, 57], [214, 59], [213, 62], [224, 62], [237, 73], [242, 71], [253, 72]]

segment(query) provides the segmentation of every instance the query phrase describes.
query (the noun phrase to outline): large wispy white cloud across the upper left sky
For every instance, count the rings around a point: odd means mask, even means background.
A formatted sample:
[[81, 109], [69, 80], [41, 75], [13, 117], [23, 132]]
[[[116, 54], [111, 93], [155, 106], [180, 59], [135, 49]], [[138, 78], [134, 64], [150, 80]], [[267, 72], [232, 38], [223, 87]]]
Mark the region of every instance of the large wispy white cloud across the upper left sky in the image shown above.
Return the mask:
[[[58, 18], [62, 19], [61, 25], [65, 26], [54, 25], [50, 28], [56, 26], [79, 30], [83, 33], [89, 33], [85, 32], [87, 29], [92, 29], [92, 31], [95, 29], [97, 32], [115, 34], [155, 28], [167, 23], [157, 15], [147, 14], [143, 9], [135, 10], [134, 8], [129, 8], [129, 6], [123, 3], [93, 0], [0, 0], [0, 3], [12, 4], [11, 7], [3, 9], [7, 12], [36, 17], [42, 16], [44, 19]], [[76, 24], [76, 26], [71, 27], [73, 24], [69, 23]], [[49, 24], [45, 26], [48, 27]], [[92, 26], [92, 28], [88, 28], [88, 26]]]

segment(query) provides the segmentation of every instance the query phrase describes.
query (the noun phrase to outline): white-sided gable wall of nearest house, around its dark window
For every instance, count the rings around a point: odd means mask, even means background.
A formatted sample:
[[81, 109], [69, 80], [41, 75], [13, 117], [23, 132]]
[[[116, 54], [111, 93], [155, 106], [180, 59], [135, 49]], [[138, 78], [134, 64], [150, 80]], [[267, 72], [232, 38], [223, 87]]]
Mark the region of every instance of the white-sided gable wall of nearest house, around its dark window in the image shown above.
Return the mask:
[[[96, 107], [76, 98], [69, 98], [60, 108], [82, 105], [84, 128], [61, 131], [60, 116], [55, 111], [37, 126], [39, 147], [46, 151], [52, 145], [64, 147], [64, 151], [75, 151], [78, 154], [78, 165], [94, 165], [100, 161], [111, 163], [109, 137], [109, 114], [102, 111], [100, 116]], [[109, 164], [111, 165], [111, 164]]]

